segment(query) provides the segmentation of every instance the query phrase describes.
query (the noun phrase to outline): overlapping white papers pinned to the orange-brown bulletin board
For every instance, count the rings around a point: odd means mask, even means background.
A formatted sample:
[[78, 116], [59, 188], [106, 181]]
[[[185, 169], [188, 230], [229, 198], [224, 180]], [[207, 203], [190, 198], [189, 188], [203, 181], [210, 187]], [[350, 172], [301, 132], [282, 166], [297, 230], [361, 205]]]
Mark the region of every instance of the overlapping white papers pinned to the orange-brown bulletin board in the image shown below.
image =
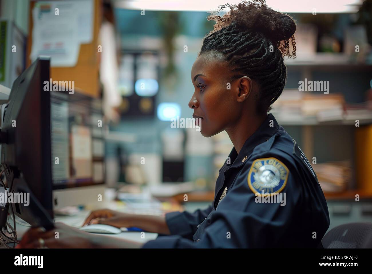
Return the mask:
[[93, 39], [93, 0], [38, 1], [32, 10], [30, 59], [51, 56], [51, 67], [73, 67], [80, 44]]

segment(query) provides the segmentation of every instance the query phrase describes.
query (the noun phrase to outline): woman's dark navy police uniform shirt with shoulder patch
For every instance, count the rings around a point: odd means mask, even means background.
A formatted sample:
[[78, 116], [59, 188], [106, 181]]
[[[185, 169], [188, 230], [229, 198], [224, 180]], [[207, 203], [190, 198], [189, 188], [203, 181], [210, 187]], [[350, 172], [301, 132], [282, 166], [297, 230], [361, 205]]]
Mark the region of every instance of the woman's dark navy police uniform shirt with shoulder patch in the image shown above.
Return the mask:
[[144, 248], [316, 248], [329, 214], [310, 163], [269, 114], [239, 154], [232, 148], [212, 204], [166, 222], [171, 235]]

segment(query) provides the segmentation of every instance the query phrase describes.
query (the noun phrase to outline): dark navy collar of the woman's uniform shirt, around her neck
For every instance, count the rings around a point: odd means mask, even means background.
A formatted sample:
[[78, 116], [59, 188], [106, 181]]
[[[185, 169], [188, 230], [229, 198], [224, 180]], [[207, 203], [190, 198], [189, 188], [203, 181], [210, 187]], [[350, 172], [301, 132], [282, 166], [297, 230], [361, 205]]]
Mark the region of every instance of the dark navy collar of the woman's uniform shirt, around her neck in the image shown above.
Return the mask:
[[231, 152], [228, 156], [232, 162], [231, 168], [239, 167], [244, 164], [249, 155], [251, 155], [253, 152], [253, 149], [257, 147], [257, 145], [262, 144], [270, 139], [274, 133], [278, 131], [278, 129], [279, 124], [276, 122], [273, 114], [270, 113], [267, 115], [260, 127], [247, 139], [239, 154], [235, 150], [235, 147], [231, 149]]

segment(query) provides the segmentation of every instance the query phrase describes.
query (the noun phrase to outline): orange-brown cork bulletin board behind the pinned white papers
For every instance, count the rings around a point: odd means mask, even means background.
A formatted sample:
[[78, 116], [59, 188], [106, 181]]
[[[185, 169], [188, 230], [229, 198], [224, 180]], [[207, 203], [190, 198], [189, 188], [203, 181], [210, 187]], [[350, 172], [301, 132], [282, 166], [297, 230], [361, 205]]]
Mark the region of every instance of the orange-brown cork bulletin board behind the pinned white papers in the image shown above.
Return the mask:
[[[75, 81], [75, 91], [90, 97], [99, 96], [99, 45], [98, 34], [102, 21], [102, 0], [93, 0], [93, 36], [89, 44], [80, 44], [77, 63], [74, 67], [51, 67], [51, 78], [56, 81]], [[30, 2], [29, 37], [26, 47], [26, 66], [31, 64], [29, 59], [32, 47], [33, 18], [32, 9], [37, 0]]]

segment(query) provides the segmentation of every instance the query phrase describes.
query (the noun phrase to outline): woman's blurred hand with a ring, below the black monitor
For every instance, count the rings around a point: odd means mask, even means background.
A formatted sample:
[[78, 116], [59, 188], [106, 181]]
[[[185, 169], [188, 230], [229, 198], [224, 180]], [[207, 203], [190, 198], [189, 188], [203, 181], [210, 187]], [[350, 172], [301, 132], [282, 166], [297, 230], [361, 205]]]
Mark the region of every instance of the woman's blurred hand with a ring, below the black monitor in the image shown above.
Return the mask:
[[[92, 234], [55, 223], [54, 229], [45, 232], [40, 227], [32, 227], [22, 237], [16, 248], [95, 248]], [[57, 233], [58, 232], [58, 233]]]

